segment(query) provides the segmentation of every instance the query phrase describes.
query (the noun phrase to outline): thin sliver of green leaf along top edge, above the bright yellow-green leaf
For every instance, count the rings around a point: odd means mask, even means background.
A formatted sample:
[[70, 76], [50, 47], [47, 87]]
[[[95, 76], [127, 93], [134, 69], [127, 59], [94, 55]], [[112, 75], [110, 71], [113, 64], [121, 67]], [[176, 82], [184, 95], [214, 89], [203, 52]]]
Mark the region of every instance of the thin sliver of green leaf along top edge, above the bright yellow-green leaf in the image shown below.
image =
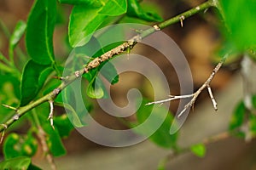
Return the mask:
[[72, 5], [88, 5], [90, 7], [101, 7], [101, 0], [58, 0], [60, 3], [68, 3]]

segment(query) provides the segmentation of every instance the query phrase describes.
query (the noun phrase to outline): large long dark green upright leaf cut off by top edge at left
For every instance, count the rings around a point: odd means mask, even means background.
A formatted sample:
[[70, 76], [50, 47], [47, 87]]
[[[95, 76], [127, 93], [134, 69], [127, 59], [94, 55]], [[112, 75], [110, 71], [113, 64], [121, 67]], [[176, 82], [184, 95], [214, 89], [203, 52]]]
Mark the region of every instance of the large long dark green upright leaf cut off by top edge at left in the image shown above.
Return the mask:
[[33, 61], [41, 65], [55, 63], [53, 32], [56, 1], [37, 0], [27, 20], [26, 49]]

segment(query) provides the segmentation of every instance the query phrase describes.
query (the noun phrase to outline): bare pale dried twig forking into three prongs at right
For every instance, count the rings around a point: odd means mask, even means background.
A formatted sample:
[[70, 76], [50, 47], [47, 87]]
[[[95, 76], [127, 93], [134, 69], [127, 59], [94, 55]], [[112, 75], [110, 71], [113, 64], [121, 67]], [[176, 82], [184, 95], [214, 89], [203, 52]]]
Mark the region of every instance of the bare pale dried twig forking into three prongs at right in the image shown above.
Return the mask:
[[210, 87], [210, 83], [212, 82], [212, 79], [213, 77], [216, 75], [216, 73], [218, 72], [219, 68], [224, 64], [224, 61], [225, 59], [227, 58], [229, 54], [226, 54], [224, 56], [223, 59], [221, 59], [221, 61], [218, 63], [218, 65], [215, 66], [215, 68], [213, 69], [212, 71], [212, 74], [210, 75], [210, 77], [207, 78], [207, 81], [204, 82], [202, 85], [201, 85], [201, 88], [199, 88], [194, 94], [187, 94], [187, 95], [180, 95], [180, 96], [173, 96], [171, 95], [171, 98], [168, 98], [168, 99], [162, 99], [162, 100], [159, 100], [159, 101], [154, 101], [154, 102], [150, 102], [146, 105], [153, 105], [153, 104], [162, 104], [164, 102], [167, 102], [167, 101], [172, 101], [174, 99], [185, 99], [185, 98], [192, 98], [189, 103], [187, 105], [184, 106], [183, 108], [183, 111], [181, 111], [180, 113], [178, 113], [177, 115], [177, 118], [182, 116], [183, 113], [185, 111], [187, 111], [190, 107], [192, 107], [194, 104], [195, 104], [195, 100], [197, 99], [197, 97], [199, 96], [199, 94], [201, 94], [201, 92], [207, 88], [208, 89], [208, 93], [210, 95], [210, 98], [212, 99], [212, 105], [213, 105], [213, 108], [215, 111], [218, 110], [217, 108], [217, 102], [216, 100], [214, 99], [213, 97], [213, 94], [212, 94], [212, 89]]

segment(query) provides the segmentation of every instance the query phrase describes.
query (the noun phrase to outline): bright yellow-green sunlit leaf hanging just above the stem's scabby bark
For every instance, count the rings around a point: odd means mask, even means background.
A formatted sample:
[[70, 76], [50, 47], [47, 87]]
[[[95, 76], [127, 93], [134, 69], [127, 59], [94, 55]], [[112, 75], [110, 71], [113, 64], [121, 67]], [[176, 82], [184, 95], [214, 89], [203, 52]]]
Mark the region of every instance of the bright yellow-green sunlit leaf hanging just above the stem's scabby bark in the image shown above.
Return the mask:
[[105, 15], [98, 14], [101, 10], [102, 8], [91, 8], [86, 5], [73, 7], [68, 25], [69, 43], [73, 48], [83, 46], [90, 41], [91, 34], [106, 18]]

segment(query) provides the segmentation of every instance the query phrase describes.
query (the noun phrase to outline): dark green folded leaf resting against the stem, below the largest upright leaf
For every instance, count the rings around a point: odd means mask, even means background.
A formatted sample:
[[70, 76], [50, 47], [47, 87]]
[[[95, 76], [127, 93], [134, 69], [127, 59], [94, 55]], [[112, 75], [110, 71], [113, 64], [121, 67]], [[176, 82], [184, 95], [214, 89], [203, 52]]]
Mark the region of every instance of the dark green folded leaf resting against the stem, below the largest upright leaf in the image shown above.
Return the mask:
[[21, 77], [20, 106], [27, 105], [37, 96], [50, 71], [49, 65], [38, 65], [32, 59], [26, 63]]

